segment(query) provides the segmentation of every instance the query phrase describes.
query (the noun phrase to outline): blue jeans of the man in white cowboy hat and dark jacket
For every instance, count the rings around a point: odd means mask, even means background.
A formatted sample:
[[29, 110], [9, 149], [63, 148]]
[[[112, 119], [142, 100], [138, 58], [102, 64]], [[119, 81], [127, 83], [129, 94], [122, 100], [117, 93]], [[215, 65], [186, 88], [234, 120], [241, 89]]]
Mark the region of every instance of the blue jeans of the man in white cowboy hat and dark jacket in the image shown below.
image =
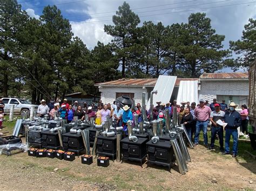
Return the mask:
[[226, 129], [225, 135], [225, 153], [230, 152], [230, 137], [233, 138], [233, 154], [237, 155], [238, 150], [238, 130], [237, 129]]

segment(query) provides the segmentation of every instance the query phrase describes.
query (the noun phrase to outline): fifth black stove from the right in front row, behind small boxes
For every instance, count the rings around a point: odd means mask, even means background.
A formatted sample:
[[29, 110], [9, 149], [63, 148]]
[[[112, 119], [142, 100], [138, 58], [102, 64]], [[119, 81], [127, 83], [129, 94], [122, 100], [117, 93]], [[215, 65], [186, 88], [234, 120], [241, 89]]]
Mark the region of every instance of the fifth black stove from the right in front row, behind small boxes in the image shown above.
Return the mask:
[[42, 134], [43, 147], [53, 150], [60, 149], [59, 134], [58, 131], [51, 133], [50, 130], [44, 131]]

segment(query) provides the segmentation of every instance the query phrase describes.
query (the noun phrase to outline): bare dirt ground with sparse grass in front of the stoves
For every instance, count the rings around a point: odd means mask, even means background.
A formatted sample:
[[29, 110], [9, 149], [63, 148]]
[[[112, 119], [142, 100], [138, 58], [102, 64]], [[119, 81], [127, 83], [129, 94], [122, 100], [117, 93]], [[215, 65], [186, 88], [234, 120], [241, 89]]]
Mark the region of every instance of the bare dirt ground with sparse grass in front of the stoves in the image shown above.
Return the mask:
[[0, 186], [3, 190], [256, 190], [256, 160], [232, 158], [201, 145], [189, 151], [192, 162], [185, 175], [179, 174], [177, 166], [169, 172], [147, 162], [140, 167], [137, 162], [110, 161], [109, 167], [98, 167], [96, 159], [84, 165], [80, 157], [70, 162], [29, 157], [28, 153], [0, 155]]

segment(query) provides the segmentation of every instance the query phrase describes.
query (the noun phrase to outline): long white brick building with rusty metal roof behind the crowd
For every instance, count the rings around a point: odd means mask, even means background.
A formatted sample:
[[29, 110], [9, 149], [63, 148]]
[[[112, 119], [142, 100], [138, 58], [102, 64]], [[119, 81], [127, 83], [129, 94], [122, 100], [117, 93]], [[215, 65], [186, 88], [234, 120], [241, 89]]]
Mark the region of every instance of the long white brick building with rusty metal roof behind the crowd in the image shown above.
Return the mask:
[[[248, 103], [249, 95], [249, 80], [248, 73], [204, 73], [199, 79], [180, 79], [177, 78], [171, 102], [176, 100], [180, 81], [195, 81], [198, 80], [198, 95], [199, 99], [203, 98], [210, 103], [213, 98], [217, 98], [217, 102], [225, 100], [235, 102], [239, 105]], [[110, 82], [97, 83], [101, 93], [103, 103], [113, 103], [116, 98], [123, 94], [129, 95], [134, 99], [135, 103], [142, 103], [142, 93], [147, 93], [147, 98], [150, 97], [150, 92], [153, 90], [157, 79], [119, 79]], [[146, 98], [146, 102], [147, 102]], [[186, 100], [184, 100], [186, 101]], [[155, 103], [153, 103], [155, 104]]]

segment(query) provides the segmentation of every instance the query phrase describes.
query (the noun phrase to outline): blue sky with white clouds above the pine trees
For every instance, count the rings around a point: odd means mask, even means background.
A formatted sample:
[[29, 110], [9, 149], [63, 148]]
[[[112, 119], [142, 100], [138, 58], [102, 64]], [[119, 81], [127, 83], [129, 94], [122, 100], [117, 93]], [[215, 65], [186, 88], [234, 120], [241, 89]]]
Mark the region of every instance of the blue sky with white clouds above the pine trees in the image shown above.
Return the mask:
[[[100, 41], [107, 44], [112, 37], [104, 32], [104, 24], [112, 23], [112, 16], [120, 0], [18, 0], [30, 17], [39, 18], [44, 6], [55, 4], [69, 19], [72, 32], [92, 49]], [[187, 23], [191, 13], [205, 12], [217, 34], [225, 35], [224, 48], [230, 40], [241, 39], [244, 25], [249, 18], [256, 19], [255, 0], [127, 0], [133, 12], [143, 22], [162, 22], [165, 26], [173, 23]], [[231, 72], [230, 69], [224, 69]]]

